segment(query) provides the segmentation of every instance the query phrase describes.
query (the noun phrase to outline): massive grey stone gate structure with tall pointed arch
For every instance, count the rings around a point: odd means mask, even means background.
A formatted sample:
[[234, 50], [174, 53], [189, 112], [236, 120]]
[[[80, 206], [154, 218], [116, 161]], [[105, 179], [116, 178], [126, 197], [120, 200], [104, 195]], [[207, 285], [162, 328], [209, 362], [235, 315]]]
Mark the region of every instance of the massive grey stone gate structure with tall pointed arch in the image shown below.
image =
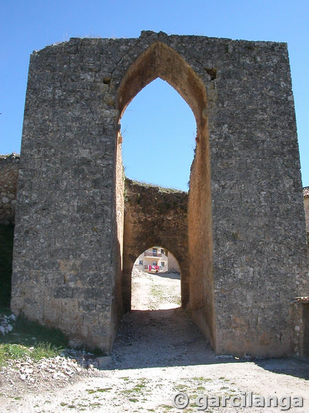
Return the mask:
[[196, 118], [187, 309], [218, 353], [290, 354], [308, 257], [286, 43], [141, 32], [34, 52], [12, 309], [111, 349], [122, 312], [119, 119], [158, 76]]

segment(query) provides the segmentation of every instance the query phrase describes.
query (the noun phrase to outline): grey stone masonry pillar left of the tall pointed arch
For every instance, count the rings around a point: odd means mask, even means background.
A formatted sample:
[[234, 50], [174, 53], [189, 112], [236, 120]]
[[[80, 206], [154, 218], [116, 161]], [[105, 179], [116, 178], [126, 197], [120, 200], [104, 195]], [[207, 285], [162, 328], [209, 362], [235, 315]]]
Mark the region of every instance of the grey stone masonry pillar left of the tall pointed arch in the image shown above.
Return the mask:
[[104, 79], [121, 54], [115, 47], [108, 64], [110, 46], [76, 39], [31, 56], [11, 300], [14, 313], [106, 352], [115, 338], [117, 111]]

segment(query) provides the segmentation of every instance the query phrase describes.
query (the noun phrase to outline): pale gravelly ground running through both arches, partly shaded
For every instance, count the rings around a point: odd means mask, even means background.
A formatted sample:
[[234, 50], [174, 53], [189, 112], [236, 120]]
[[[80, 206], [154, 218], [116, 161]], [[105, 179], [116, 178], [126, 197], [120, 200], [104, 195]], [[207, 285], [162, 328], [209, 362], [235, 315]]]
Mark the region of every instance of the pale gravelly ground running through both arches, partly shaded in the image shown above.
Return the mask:
[[[176, 308], [177, 288], [175, 275], [135, 274], [133, 305], [139, 310], [124, 316], [111, 366], [65, 388], [44, 392], [30, 388], [17, 398], [0, 397], [0, 412], [280, 412], [288, 404], [279, 399], [284, 395], [304, 398], [304, 407], [289, 412], [309, 412], [306, 361], [217, 357], [187, 313]], [[282, 407], [206, 407], [206, 399], [199, 399], [218, 396], [222, 405], [225, 397], [229, 405], [232, 396], [239, 396], [237, 404], [242, 396], [248, 401], [249, 392], [277, 396]], [[185, 409], [173, 405], [179, 393], [189, 396]], [[177, 396], [176, 401], [183, 403], [184, 397]]]

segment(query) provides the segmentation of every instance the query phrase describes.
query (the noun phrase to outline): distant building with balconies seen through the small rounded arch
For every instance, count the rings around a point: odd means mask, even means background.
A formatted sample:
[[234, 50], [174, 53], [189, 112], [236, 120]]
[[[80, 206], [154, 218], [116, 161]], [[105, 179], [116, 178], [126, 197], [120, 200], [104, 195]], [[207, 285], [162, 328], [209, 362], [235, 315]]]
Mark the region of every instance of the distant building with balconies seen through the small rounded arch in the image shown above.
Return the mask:
[[[170, 265], [171, 264], [171, 265]], [[179, 264], [174, 255], [169, 253], [161, 246], [152, 246], [144, 251], [134, 263], [135, 268], [148, 273], [166, 273], [168, 271], [176, 271], [180, 273]]]

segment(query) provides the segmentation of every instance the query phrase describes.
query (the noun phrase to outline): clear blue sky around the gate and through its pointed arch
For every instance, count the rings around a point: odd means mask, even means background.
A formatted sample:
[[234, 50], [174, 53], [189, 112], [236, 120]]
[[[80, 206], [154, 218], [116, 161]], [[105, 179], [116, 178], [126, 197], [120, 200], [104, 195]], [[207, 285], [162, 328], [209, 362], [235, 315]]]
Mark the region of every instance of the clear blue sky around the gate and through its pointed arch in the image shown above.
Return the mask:
[[[32, 50], [70, 37], [138, 37], [141, 30], [288, 43], [303, 185], [309, 185], [308, 0], [124, 0], [0, 3], [0, 153], [19, 152]], [[195, 123], [174, 89], [155, 81], [122, 118], [129, 177], [187, 190]], [[152, 146], [151, 146], [152, 145]], [[145, 165], [141, 147], [147, 146]], [[173, 148], [173, 152], [169, 152]], [[174, 149], [177, 151], [174, 151]]]

